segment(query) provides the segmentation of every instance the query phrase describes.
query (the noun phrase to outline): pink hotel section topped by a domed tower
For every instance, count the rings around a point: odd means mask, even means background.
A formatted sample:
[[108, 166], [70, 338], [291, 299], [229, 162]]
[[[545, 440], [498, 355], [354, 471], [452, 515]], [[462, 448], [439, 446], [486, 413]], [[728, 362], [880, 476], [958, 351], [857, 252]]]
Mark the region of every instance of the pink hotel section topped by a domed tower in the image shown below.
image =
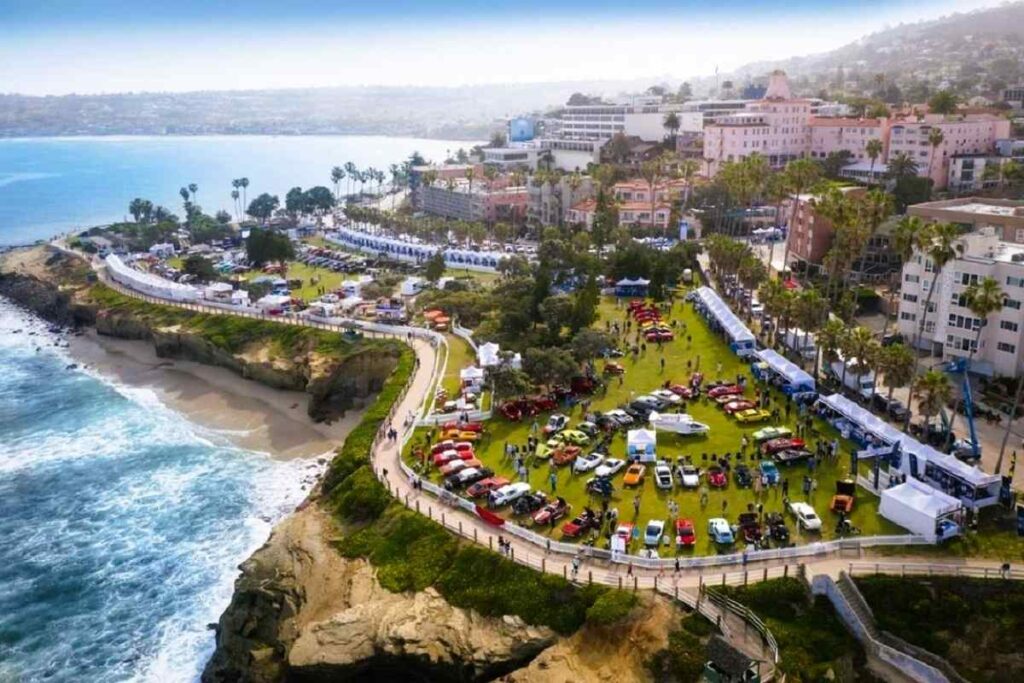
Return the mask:
[[772, 73], [764, 99], [705, 127], [705, 160], [712, 176], [723, 164], [759, 154], [772, 168], [806, 157], [811, 147], [811, 100], [793, 97], [781, 71]]

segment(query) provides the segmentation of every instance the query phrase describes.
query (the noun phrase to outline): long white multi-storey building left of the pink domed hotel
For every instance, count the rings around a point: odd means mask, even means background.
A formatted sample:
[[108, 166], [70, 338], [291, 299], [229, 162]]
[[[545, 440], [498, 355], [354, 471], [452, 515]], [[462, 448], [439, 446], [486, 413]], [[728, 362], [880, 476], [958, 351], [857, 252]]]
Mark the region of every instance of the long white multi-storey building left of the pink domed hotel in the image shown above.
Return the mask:
[[667, 104], [655, 95], [635, 95], [617, 102], [566, 104], [562, 112], [561, 135], [577, 140], [608, 140], [616, 133], [635, 135], [643, 140], [665, 138], [665, 117], [675, 112], [681, 131], [699, 132], [703, 115], [682, 112], [679, 104]]

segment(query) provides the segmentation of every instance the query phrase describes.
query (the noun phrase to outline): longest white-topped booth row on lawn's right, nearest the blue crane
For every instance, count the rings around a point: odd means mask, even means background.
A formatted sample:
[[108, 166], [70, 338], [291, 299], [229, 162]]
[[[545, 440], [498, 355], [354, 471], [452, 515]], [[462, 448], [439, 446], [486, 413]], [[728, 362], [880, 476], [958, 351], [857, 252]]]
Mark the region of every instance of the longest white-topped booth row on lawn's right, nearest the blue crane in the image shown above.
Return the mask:
[[[977, 510], [995, 505], [999, 500], [1000, 479], [978, 467], [940, 453], [905, 434], [870, 411], [840, 394], [822, 396], [816, 410], [844, 438], [856, 441], [863, 450], [861, 460], [880, 458], [889, 475], [919, 479], [933, 488], [961, 501], [964, 507]], [[880, 466], [881, 468], [881, 466]]]

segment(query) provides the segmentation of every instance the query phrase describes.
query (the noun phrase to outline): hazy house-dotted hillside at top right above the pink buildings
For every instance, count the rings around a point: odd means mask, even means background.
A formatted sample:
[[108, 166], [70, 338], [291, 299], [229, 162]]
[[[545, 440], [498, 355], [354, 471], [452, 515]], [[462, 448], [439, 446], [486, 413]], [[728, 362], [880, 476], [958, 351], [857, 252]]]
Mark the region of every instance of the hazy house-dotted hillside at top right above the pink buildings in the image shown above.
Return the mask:
[[746, 65], [737, 85], [784, 70], [805, 95], [921, 100], [952, 88], [965, 98], [993, 97], [1024, 83], [1024, 2], [879, 31], [821, 54]]

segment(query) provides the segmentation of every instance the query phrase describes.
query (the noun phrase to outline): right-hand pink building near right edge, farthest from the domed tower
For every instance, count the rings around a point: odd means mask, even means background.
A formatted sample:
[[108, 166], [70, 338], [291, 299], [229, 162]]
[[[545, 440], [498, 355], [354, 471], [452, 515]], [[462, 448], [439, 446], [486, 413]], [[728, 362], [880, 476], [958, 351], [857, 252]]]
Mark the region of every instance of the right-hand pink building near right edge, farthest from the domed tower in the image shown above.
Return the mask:
[[[933, 129], [942, 132], [942, 143], [928, 142]], [[930, 177], [935, 187], [943, 188], [949, 179], [949, 161], [953, 155], [987, 154], [995, 140], [1010, 137], [1010, 120], [992, 114], [942, 116], [928, 114], [894, 119], [889, 130], [889, 158], [906, 154], [918, 162], [918, 175]]]

